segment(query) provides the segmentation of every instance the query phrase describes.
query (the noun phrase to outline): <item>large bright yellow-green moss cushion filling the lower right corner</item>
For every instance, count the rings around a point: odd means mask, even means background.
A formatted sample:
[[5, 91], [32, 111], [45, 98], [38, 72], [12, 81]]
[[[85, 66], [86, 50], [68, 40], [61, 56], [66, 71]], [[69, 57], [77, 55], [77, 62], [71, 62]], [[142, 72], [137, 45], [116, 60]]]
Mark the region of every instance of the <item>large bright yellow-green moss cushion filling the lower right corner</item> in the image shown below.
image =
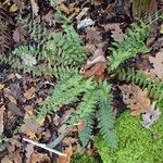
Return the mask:
[[122, 114], [115, 123], [118, 148], [111, 150], [101, 136], [95, 146], [103, 163], [163, 163], [163, 116], [147, 130], [139, 124], [140, 117]]

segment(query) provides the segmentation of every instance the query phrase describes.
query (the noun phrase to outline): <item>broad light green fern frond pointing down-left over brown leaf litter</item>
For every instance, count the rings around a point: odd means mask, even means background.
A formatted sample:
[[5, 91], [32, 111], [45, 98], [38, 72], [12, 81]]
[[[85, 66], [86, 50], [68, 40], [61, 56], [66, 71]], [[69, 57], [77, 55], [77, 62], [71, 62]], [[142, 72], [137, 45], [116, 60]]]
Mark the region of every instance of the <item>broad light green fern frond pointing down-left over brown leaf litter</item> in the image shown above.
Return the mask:
[[88, 89], [93, 88], [93, 84], [95, 83], [91, 79], [85, 80], [77, 74], [66, 78], [66, 80], [61, 84], [58, 84], [54, 87], [49, 102], [37, 112], [38, 120], [41, 120], [47, 114], [50, 114], [52, 111], [57, 110], [59, 105], [78, 101], [78, 96], [86, 92]]

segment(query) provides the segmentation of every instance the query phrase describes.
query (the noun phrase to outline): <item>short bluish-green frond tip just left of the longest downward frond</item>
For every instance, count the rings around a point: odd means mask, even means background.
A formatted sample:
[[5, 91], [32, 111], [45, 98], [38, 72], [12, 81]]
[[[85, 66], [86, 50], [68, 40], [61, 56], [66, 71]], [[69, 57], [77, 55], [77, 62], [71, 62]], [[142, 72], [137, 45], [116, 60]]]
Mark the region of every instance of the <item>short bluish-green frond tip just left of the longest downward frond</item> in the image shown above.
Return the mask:
[[93, 114], [88, 115], [86, 117], [86, 122], [87, 122], [86, 127], [78, 133], [78, 137], [83, 147], [86, 147], [90, 139], [92, 128], [93, 128]]

